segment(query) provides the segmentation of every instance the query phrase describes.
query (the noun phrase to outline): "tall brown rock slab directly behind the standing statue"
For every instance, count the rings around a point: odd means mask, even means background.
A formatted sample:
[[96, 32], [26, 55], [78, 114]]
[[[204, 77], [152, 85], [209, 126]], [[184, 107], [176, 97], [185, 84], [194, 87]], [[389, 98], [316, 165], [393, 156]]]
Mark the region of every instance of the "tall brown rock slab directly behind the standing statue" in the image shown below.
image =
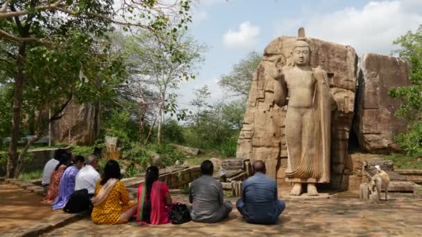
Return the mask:
[[[248, 97], [244, 125], [237, 141], [237, 158], [261, 159], [269, 177], [284, 180], [287, 168], [285, 146], [286, 107], [274, 102], [275, 81], [269, 77], [273, 67], [292, 65], [292, 49], [296, 37], [278, 37], [264, 50], [262, 62], [255, 71]], [[331, 186], [346, 189], [344, 174], [348, 157], [348, 137], [355, 105], [357, 55], [351, 46], [307, 38], [311, 48], [312, 67], [328, 72], [330, 91], [337, 103], [332, 112]]]

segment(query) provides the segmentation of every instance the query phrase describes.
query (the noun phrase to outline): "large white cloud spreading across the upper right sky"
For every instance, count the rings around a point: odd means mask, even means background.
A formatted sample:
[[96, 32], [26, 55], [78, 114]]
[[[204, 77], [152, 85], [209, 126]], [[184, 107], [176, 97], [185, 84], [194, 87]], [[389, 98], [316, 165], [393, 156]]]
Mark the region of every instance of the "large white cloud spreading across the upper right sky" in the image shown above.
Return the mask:
[[351, 45], [357, 53], [389, 54], [392, 44], [422, 22], [422, 1], [371, 1], [362, 9], [345, 8], [326, 15], [308, 15], [296, 21], [280, 21], [277, 33], [305, 27], [306, 35]]

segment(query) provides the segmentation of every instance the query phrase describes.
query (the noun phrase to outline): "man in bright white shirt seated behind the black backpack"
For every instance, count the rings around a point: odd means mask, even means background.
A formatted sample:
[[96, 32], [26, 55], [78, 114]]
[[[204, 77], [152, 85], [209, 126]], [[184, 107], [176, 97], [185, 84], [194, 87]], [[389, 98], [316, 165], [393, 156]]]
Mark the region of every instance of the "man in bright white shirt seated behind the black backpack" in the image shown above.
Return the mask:
[[85, 161], [85, 166], [76, 175], [75, 191], [87, 188], [88, 193], [93, 197], [96, 181], [100, 178], [100, 174], [95, 170], [97, 159], [95, 155], [89, 155]]

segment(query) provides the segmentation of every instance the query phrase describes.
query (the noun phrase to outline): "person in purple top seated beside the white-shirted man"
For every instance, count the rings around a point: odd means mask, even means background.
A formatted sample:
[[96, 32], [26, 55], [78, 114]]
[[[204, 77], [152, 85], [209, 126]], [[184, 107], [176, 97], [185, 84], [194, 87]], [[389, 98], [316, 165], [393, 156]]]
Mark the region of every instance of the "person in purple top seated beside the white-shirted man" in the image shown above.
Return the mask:
[[53, 210], [62, 209], [65, 207], [70, 195], [75, 191], [75, 179], [79, 170], [83, 167], [85, 158], [77, 155], [74, 159], [74, 165], [67, 167], [62, 177], [58, 188], [58, 196], [53, 202]]

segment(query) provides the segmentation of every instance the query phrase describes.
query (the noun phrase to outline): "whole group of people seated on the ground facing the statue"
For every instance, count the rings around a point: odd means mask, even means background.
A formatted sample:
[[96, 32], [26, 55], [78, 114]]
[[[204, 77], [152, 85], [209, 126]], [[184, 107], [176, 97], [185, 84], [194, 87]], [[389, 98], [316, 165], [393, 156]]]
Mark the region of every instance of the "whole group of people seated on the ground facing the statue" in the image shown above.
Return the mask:
[[[130, 220], [136, 220], [140, 225], [171, 222], [168, 213], [172, 200], [167, 184], [159, 179], [158, 167], [150, 166], [146, 170], [145, 182], [137, 189], [137, 200], [130, 201], [128, 191], [120, 181], [117, 161], [109, 160], [100, 177], [95, 170], [97, 161], [94, 155], [87, 157], [85, 166], [85, 159], [81, 156], [74, 157], [73, 165], [70, 159], [69, 153], [56, 152], [55, 159], [51, 159], [44, 168], [42, 183], [48, 190], [45, 200], [53, 204], [53, 209], [64, 207], [74, 191], [87, 188], [93, 196], [91, 218], [96, 224], [121, 224]], [[285, 202], [278, 200], [276, 181], [265, 176], [264, 162], [255, 161], [253, 172], [254, 175], [243, 182], [237, 210], [246, 222], [275, 224], [285, 209]], [[191, 217], [195, 222], [219, 222], [227, 218], [233, 209], [230, 201], [224, 202], [223, 187], [212, 177], [213, 173], [212, 162], [203, 161], [201, 177], [189, 187]]]

